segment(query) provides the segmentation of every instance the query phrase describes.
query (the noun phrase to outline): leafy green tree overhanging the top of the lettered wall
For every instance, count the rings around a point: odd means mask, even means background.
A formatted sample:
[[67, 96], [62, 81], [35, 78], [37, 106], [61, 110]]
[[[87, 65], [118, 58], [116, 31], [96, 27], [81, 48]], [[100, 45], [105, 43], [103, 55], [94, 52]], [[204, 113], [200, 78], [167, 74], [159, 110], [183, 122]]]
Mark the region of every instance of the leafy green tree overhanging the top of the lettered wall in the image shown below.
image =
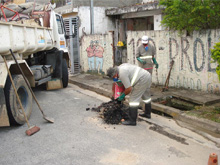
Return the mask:
[[161, 23], [169, 30], [220, 28], [219, 0], [160, 0], [159, 5], [165, 7]]

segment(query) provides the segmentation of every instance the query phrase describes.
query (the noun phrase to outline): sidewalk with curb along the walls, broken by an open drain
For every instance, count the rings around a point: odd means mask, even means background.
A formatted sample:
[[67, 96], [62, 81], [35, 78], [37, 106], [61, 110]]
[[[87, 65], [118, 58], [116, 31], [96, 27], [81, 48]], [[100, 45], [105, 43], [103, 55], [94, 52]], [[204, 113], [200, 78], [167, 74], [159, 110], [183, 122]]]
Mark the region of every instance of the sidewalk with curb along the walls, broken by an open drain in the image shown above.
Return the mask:
[[[111, 88], [113, 81], [108, 79], [107, 77], [92, 74], [70, 75], [69, 82], [106, 97], [112, 96]], [[209, 135], [220, 138], [220, 123], [203, 118], [189, 116], [184, 111], [181, 111], [179, 109], [156, 103], [156, 100], [158, 99], [175, 96], [201, 105], [208, 105], [215, 102], [220, 102], [219, 96], [207, 94], [204, 92], [188, 91], [174, 88], [169, 88], [168, 91], [161, 92], [161, 89], [161, 86], [156, 87], [152, 85], [151, 91], [153, 93], [153, 96], [151, 104], [153, 110], [172, 116], [173, 119], [176, 120], [179, 124], [184, 125], [184, 127], [187, 127], [189, 129], [193, 129], [200, 134], [208, 133]], [[141, 119], [149, 120], [145, 118]]]

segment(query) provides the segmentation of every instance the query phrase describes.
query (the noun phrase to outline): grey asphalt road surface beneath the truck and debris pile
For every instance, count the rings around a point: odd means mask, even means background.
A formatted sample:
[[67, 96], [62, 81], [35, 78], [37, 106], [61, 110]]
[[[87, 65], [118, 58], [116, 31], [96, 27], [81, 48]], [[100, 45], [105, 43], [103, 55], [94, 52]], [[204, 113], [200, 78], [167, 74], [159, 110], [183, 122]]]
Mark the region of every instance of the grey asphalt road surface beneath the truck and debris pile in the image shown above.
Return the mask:
[[155, 114], [137, 126], [107, 125], [86, 108], [109, 99], [72, 84], [35, 94], [55, 123], [45, 122], [34, 104], [30, 123], [39, 132], [29, 137], [27, 125], [0, 128], [1, 165], [206, 165], [210, 153], [220, 156], [215, 142]]

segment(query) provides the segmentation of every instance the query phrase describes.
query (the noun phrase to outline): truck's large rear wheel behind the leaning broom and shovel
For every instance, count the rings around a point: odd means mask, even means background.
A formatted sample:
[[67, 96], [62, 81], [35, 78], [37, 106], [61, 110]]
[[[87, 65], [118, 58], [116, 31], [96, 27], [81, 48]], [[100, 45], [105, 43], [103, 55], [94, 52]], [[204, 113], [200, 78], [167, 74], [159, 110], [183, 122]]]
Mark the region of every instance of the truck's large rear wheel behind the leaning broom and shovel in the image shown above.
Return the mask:
[[[21, 100], [22, 106], [24, 108], [25, 114], [29, 119], [32, 112], [31, 92], [21, 75], [13, 75], [12, 78], [17, 89], [19, 98]], [[4, 92], [10, 124], [23, 125], [25, 123], [25, 118], [9, 77], [6, 80]]]

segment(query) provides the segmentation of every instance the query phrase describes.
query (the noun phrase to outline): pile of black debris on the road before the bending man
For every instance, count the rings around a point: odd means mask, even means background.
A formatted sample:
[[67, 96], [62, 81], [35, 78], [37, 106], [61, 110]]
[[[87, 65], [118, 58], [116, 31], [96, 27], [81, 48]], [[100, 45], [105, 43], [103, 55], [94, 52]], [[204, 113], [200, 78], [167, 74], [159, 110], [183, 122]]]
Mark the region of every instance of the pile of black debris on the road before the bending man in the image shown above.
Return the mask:
[[99, 112], [100, 117], [107, 124], [119, 124], [122, 119], [128, 119], [128, 108], [116, 100], [102, 103], [99, 107], [92, 108], [92, 110]]

